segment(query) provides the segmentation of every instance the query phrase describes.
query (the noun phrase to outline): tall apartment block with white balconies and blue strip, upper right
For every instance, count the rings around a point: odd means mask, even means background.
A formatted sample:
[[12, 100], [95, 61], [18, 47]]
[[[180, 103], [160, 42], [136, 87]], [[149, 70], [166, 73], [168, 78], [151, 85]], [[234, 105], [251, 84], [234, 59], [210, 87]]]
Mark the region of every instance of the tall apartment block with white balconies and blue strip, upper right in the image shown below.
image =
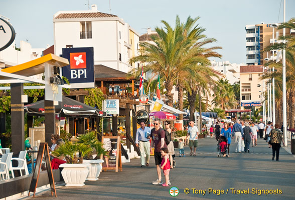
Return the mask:
[[[278, 24], [252, 24], [246, 25], [246, 64], [264, 64], [267, 58], [274, 57], [276, 51], [263, 52], [263, 49], [282, 35], [282, 29], [277, 29]], [[286, 35], [292, 34], [294, 30], [286, 28]], [[266, 60], [265, 60], [266, 58]]]

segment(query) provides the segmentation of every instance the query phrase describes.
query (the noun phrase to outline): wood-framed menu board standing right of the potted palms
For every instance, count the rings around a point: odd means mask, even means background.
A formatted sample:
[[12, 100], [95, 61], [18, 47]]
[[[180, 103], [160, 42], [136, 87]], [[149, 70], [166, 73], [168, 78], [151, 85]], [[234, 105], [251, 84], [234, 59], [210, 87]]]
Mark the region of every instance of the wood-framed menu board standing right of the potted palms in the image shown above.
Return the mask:
[[108, 152], [107, 156], [102, 156], [102, 170], [112, 169], [118, 172], [118, 169], [122, 171], [122, 160], [121, 160], [121, 144], [120, 136], [102, 136], [101, 142], [103, 148]]

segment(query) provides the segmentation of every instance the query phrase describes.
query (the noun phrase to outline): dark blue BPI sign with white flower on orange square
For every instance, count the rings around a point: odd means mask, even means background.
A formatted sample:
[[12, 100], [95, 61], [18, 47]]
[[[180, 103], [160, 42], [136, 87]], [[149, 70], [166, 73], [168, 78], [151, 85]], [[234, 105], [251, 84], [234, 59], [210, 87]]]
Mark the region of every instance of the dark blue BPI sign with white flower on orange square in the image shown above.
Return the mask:
[[63, 48], [64, 58], [70, 65], [63, 67], [63, 76], [67, 77], [72, 88], [95, 87], [93, 47]]

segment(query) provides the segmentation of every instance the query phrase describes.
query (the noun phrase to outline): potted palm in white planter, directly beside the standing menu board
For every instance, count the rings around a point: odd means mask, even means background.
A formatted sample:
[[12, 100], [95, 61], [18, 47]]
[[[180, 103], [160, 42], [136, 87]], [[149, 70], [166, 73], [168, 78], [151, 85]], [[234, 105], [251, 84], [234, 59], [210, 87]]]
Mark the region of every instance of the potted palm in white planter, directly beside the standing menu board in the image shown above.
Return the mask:
[[107, 155], [107, 151], [103, 148], [103, 144], [98, 141], [96, 132], [94, 131], [82, 134], [78, 139], [78, 143], [82, 143], [92, 149], [85, 155], [84, 160], [84, 163], [87, 163], [89, 170], [86, 180], [98, 180], [102, 168], [101, 163], [103, 162], [103, 159], [100, 159], [100, 155]]

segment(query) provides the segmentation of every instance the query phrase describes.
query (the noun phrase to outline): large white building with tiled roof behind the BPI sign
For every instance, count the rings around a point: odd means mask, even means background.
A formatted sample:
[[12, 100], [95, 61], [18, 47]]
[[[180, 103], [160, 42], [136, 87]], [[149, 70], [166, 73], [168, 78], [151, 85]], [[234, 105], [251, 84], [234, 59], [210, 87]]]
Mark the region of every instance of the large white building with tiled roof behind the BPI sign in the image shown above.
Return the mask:
[[53, 17], [55, 54], [62, 48], [94, 48], [94, 64], [128, 72], [138, 63], [129, 64], [137, 55], [139, 34], [117, 15], [91, 10], [58, 11]]

